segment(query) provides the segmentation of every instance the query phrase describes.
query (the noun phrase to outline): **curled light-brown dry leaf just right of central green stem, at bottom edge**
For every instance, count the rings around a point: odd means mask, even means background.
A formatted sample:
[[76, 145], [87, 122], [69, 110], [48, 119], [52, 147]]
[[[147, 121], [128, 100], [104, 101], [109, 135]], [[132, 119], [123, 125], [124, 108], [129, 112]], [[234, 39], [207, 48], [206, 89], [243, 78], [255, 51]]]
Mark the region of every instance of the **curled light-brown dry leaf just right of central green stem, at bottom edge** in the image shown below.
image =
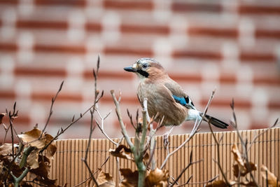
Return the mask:
[[169, 172], [155, 168], [148, 171], [146, 176], [146, 186], [168, 186]]

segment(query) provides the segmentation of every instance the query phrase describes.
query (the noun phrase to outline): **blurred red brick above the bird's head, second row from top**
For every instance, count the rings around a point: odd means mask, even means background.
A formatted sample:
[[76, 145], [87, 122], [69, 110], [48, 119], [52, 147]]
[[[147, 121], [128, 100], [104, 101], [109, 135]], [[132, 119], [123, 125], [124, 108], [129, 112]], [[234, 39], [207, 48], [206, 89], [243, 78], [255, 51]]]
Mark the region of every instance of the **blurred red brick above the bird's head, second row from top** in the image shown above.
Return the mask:
[[120, 31], [123, 33], [137, 34], [169, 34], [169, 27], [159, 25], [120, 25]]

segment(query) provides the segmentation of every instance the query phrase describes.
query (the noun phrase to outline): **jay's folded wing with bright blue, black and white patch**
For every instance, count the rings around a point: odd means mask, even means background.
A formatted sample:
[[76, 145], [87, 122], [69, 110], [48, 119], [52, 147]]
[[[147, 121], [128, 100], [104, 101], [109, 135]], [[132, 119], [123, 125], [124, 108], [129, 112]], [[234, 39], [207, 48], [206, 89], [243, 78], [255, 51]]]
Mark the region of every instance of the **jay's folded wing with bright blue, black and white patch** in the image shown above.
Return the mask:
[[165, 83], [165, 87], [170, 90], [170, 92], [172, 92], [172, 97], [174, 98], [175, 102], [186, 106], [188, 109], [195, 109], [195, 105], [193, 104], [192, 100], [190, 100], [190, 97], [188, 97], [188, 95], [183, 91], [178, 83], [171, 80]]

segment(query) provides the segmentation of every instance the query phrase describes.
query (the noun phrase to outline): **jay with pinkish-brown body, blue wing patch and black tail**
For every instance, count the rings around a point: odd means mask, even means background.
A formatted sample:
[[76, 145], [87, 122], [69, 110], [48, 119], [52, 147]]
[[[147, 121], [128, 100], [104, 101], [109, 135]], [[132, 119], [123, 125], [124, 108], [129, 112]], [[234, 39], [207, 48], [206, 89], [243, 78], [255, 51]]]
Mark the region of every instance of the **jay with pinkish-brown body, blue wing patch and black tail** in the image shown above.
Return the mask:
[[[144, 57], [124, 70], [133, 72], [139, 77], [137, 88], [139, 102], [143, 107], [144, 99], [147, 99], [148, 114], [155, 116], [158, 113], [158, 119], [162, 120], [161, 126], [178, 126], [185, 121], [202, 118], [202, 112], [195, 108], [181, 85], [168, 76], [160, 62]], [[222, 129], [228, 127], [227, 123], [212, 116], [205, 115], [205, 118], [203, 120], [208, 120], [216, 127]]]

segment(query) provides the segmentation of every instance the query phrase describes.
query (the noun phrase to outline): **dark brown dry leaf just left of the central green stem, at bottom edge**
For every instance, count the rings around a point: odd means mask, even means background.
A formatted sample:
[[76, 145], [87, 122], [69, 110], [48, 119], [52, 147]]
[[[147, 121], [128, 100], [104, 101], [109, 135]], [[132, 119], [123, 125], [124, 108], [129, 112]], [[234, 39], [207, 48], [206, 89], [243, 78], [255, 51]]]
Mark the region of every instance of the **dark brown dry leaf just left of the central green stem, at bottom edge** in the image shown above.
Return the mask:
[[120, 169], [120, 174], [124, 179], [120, 183], [120, 187], [136, 187], [138, 186], [138, 171], [132, 172], [131, 169]]

